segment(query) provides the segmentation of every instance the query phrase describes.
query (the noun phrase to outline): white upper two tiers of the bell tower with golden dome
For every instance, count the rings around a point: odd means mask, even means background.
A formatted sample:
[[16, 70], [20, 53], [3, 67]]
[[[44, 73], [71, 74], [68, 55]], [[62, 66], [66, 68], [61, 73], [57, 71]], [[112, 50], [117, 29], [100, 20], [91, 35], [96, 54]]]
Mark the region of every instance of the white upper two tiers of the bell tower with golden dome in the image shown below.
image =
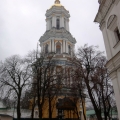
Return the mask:
[[73, 56], [76, 40], [69, 30], [69, 18], [69, 11], [59, 0], [46, 11], [46, 32], [39, 40], [44, 55], [55, 53], [61, 57]]

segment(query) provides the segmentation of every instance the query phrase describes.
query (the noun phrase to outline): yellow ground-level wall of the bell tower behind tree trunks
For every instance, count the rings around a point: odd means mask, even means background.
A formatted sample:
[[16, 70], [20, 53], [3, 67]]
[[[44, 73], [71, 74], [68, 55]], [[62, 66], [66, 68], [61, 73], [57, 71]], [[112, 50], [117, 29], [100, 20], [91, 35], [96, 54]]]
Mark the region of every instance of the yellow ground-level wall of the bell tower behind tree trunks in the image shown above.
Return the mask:
[[[59, 98], [62, 99], [62, 98], [64, 98], [64, 96], [54, 97], [53, 100], [51, 101], [52, 118], [56, 118], [58, 115], [58, 110], [56, 109], [56, 103]], [[69, 98], [74, 102], [74, 97], [69, 97]], [[64, 118], [78, 118], [78, 115], [79, 115], [79, 118], [81, 118], [80, 111], [83, 111], [83, 109], [82, 109], [82, 104], [80, 103], [80, 101], [81, 101], [80, 99], [77, 99], [75, 110], [64, 110]], [[32, 109], [32, 100], [31, 100], [30, 109]], [[85, 104], [84, 104], [84, 110], [85, 110], [85, 114], [86, 114]], [[45, 98], [45, 102], [43, 104], [42, 118], [49, 118], [48, 98]], [[84, 120], [83, 115], [82, 115], [82, 120]]]

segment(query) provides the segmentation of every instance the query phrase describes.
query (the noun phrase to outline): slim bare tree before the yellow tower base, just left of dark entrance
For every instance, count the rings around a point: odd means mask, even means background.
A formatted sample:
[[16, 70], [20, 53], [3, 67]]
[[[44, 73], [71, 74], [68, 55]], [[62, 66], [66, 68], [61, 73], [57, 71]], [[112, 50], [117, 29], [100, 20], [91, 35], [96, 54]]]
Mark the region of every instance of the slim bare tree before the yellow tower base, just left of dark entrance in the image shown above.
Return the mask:
[[[52, 61], [54, 62], [54, 61]], [[49, 101], [49, 119], [52, 119], [53, 109], [56, 106], [56, 99], [58, 98], [59, 91], [61, 90], [62, 80], [64, 79], [63, 68], [53, 65], [52, 69], [49, 69], [48, 81], [49, 87], [47, 90], [47, 97]]]

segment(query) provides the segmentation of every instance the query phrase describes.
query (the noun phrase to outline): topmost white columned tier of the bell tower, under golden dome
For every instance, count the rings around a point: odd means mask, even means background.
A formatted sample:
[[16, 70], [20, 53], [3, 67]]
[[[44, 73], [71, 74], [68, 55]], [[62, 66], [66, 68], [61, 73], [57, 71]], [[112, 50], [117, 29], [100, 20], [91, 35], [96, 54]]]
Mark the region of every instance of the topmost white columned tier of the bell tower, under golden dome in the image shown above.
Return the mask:
[[54, 4], [46, 11], [46, 30], [65, 28], [69, 31], [70, 14], [61, 4]]

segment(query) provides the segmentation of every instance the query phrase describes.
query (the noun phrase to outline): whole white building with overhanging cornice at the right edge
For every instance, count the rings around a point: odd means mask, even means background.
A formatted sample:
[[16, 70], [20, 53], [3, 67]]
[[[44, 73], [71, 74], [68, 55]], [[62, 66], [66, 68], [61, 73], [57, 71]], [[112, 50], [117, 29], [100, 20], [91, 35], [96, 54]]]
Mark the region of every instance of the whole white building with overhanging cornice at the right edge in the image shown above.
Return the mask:
[[120, 119], [120, 0], [99, 0], [95, 22], [103, 34]]

